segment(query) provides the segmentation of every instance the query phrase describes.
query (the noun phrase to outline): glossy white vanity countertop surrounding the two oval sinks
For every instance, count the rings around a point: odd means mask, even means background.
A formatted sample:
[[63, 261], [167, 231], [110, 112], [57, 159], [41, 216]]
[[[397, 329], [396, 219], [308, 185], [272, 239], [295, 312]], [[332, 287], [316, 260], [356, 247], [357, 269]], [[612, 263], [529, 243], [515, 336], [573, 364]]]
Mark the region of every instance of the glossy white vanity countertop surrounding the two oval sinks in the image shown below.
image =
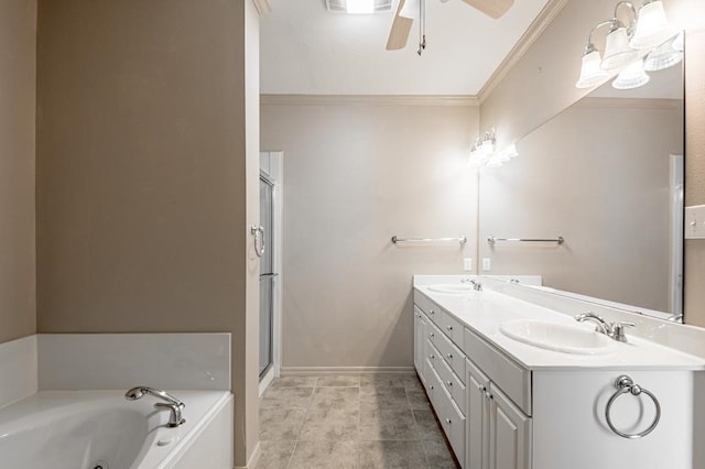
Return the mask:
[[[425, 283], [425, 282], [423, 282]], [[445, 282], [438, 282], [445, 283]], [[593, 323], [578, 324], [561, 314], [489, 288], [481, 292], [446, 294], [416, 284], [414, 288], [455, 316], [507, 356], [529, 370], [599, 368], [615, 370], [705, 370], [705, 359], [629, 335], [628, 342], [614, 341], [606, 355], [579, 356], [533, 347], [500, 332], [507, 320], [540, 319], [594, 329]]]

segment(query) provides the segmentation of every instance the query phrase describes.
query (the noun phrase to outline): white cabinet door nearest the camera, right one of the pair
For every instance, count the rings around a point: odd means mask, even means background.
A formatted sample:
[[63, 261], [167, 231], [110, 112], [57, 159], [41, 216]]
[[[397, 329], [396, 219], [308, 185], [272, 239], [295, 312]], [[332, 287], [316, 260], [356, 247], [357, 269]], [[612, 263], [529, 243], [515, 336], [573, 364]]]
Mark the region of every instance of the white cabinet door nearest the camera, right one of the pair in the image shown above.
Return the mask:
[[489, 469], [531, 469], [531, 418], [489, 389]]

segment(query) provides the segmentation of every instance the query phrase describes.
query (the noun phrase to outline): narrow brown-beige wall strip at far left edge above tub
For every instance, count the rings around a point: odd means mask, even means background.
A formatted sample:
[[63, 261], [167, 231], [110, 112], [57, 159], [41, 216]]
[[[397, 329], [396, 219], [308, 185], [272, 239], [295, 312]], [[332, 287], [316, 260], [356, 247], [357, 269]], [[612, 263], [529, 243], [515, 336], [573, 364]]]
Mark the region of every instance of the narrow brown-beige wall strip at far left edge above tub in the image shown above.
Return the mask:
[[36, 331], [36, 2], [0, 0], [0, 342]]

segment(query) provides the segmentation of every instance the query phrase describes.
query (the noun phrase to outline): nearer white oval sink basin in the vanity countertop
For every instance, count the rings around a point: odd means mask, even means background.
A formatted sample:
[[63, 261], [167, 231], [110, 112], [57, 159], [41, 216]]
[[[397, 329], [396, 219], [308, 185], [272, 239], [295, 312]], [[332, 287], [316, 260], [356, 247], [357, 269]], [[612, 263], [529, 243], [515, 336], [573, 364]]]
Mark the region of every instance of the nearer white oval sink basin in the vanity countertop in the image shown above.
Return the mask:
[[563, 353], [601, 355], [612, 349], [612, 340], [603, 334], [544, 320], [510, 320], [500, 325], [499, 331], [520, 342]]

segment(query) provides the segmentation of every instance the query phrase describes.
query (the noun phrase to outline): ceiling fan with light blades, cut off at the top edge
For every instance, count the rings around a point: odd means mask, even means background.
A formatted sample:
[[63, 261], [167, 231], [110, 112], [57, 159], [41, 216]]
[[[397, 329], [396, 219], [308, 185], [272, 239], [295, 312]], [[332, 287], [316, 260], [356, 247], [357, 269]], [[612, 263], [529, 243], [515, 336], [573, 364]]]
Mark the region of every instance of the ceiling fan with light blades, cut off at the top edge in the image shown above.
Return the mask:
[[[441, 0], [447, 1], [447, 0]], [[463, 0], [470, 7], [494, 19], [500, 18], [514, 3], [514, 0]], [[422, 39], [419, 41], [419, 55], [426, 47], [425, 29], [425, 0], [399, 0], [394, 21], [387, 39], [387, 51], [398, 51], [406, 46], [409, 33], [414, 19], [419, 19]]]

